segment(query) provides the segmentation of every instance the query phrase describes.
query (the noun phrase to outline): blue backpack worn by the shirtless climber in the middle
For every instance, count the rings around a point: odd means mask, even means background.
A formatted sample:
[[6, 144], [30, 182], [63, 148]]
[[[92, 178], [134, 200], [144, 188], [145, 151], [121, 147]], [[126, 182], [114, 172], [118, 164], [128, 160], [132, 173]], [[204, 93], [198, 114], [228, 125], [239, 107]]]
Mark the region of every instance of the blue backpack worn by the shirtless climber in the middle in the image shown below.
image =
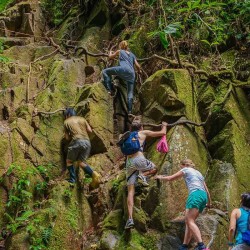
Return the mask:
[[138, 131], [126, 132], [117, 145], [121, 148], [121, 151], [124, 155], [132, 155], [140, 151], [141, 145]]

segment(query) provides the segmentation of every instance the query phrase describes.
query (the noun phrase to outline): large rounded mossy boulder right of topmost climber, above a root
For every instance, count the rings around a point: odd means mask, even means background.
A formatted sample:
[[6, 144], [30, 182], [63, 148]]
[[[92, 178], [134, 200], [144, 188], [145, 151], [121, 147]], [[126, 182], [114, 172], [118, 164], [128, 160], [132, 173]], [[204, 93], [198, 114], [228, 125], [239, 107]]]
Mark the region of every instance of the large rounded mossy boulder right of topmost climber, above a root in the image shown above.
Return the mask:
[[144, 116], [153, 117], [157, 123], [171, 116], [199, 122], [194, 88], [186, 70], [157, 71], [143, 83], [139, 93]]

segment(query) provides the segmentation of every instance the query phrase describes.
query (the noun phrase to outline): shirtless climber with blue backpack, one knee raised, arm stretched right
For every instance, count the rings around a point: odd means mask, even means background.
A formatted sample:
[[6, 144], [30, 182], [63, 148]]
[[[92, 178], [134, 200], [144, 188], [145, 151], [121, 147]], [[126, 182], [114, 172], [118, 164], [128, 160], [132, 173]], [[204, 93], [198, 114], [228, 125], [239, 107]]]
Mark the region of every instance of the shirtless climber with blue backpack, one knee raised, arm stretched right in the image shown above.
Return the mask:
[[133, 206], [136, 182], [141, 182], [144, 186], [148, 186], [146, 176], [154, 175], [157, 172], [155, 164], [147, 160], [143, 154], [143, 147], [147, 137], [161, 137], [166, 134], [167, 123], [162, 122], [160, 131], [144, 130], [140, 121], [133, 121], [131, 130], [126, 132], [118, 145], [126, 159], [126, 177], [128, 187], [127, 207], [128, 220], [125, 229], [133, 228]]

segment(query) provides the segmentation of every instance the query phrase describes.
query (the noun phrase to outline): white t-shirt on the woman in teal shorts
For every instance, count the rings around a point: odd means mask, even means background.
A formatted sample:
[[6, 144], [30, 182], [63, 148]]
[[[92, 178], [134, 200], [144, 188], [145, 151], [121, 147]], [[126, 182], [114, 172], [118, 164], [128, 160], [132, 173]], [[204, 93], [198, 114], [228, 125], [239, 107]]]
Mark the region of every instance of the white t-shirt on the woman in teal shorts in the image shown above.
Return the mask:
[[204, 177], [198, 170], [192, 167], [186, 167], [181, 169], [181, 171], [184, 173], [184, 179], [189, 194], [196, 190], [203, 190], [206, 192], [206, 189], [204, 187]]

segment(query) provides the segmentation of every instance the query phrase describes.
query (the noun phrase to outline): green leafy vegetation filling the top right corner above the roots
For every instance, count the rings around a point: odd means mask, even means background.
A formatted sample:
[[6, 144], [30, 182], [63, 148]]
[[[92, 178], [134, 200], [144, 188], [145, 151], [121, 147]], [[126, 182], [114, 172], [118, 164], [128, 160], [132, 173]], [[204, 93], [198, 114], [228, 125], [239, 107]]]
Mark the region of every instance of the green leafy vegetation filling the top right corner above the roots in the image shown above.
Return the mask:
[[199, 45], [211, 49], [230, 40], [234, 43], [250, 40], [246, 29], [250, 24], [249, 1], [150, 0], [147, 3], [158, 7], [159, 12], [158, 29], [149, 32], [149, 36], [158, 36], [165, 49], [171, 37], [183, 46]]

